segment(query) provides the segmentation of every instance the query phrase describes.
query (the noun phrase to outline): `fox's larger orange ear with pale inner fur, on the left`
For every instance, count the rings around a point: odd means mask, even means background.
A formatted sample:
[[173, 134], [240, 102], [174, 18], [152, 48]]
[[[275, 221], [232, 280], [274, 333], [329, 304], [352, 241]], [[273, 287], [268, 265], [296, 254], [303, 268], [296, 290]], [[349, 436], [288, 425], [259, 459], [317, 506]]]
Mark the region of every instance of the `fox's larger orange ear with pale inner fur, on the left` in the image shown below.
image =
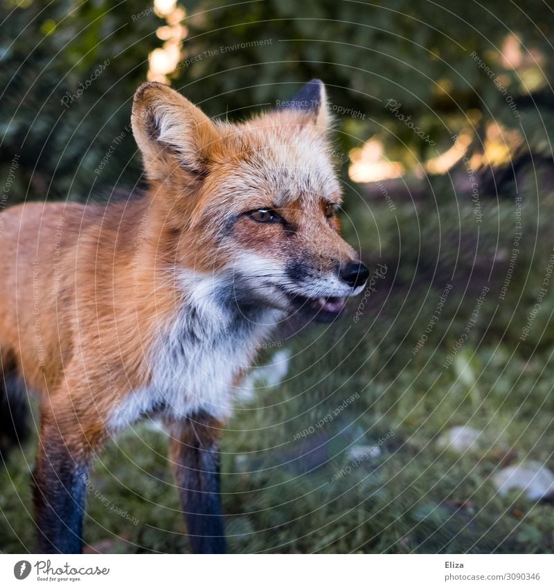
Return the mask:
[[179, 92], [159, 82], [136, 91], [133, 134], [150, 179], [163, 180], [176, 165], [202, 177], [218, 133], [210, 119]]

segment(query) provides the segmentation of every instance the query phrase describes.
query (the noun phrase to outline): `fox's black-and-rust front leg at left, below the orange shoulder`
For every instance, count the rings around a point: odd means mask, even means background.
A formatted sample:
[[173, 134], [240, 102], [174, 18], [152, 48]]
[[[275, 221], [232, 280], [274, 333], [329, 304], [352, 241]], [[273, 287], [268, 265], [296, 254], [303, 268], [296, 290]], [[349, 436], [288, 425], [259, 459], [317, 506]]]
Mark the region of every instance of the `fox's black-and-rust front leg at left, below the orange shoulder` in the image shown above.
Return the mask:
[[93, 447], [76, 416], [69, 427], [66, 416], [59, 414], [56, 418], [50, 408], [41, 411], [33, 488], [38, 549], [39, 553], [81, 553]]

